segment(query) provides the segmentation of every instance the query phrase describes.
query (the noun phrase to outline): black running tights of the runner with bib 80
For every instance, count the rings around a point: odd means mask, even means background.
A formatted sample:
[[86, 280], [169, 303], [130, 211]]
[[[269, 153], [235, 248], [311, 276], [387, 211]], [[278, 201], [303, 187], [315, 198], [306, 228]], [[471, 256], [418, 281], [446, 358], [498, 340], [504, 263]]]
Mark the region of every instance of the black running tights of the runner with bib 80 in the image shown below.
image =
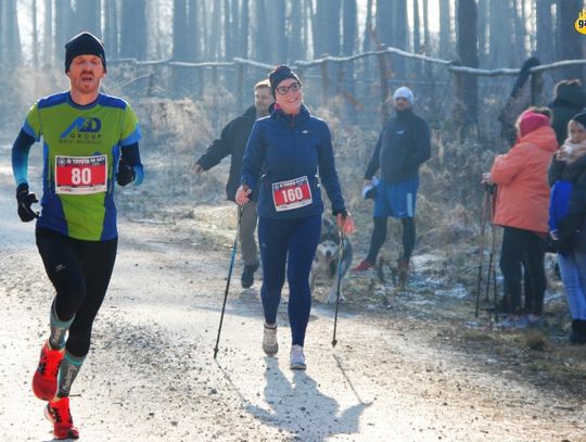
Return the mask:
[[81, 241], [56, 231], [37, 228], [37, 248], [56, 296], [60, 320], [75, 316], [65, 348], [74, 356], [88, 354], [93, 319], [104, 300], [118, 239]]

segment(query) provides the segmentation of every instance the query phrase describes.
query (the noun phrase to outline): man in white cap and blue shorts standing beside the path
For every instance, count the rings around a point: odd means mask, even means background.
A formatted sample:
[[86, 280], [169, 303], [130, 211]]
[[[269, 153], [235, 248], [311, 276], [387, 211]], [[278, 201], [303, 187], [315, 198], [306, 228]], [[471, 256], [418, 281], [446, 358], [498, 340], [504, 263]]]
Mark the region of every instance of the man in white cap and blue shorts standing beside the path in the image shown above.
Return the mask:
[[413, 93], [405, 86], [393, 94], [396, 116], [383, 127], [372, 159], [365, 173], [365, 187], [372, 186], [377, 171], [381, 180], [375, 188], [374, 230], [367, 257], [353, 268], [365, 271], [374, 266], [386, 239], [388, 216], [403, 225], [403, 255], [397, 262], [399, 279], [405, 282], [416, 242], [415, 210], [419, 188], [419, 166], [431, 155], [430, 128], [412, 111]]

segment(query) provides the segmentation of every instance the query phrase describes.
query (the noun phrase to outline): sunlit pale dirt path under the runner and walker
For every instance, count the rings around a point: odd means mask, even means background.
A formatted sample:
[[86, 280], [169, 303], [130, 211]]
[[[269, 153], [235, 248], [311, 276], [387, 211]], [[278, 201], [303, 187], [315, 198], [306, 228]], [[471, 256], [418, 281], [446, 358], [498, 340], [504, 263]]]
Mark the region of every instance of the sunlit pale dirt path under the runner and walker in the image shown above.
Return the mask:
[[[29, 381], [47, 333], [51, 286], [17, 222], [0, 149], [0, 440], [51, 440]], [[230, 211], [229, 206], [226, 206]], [[231, 214], [231, 212], [229, 212]], [[227, 306], [213, 358], [228, 247], [192, 244], [178, 226], [120, 223], [109, 295], [72, 411], [85, 441], [586, 441], [584, 401], [487, 369], [409, 320], [316, 305], [306, 372], [260, 350], [258, 283]], [[235, 270], [240, 275], [240, 268]]]

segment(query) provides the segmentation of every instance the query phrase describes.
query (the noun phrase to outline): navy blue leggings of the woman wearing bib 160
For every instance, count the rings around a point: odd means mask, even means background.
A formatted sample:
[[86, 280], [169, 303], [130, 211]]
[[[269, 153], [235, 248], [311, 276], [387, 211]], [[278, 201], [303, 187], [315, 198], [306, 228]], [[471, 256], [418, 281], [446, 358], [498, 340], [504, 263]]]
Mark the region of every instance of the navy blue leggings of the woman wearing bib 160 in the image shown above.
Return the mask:
[[277, 321], [281, 302], [285, 263], [289, 282], [289, 324], [293, 345], [305, 342], [305, 330], [311, 310], [309, 270], [316, 254], [321, 229], [321, 215], [294, 219], [258, 218], [258, 242], [263, 261], [260, 298], [265, 321]]

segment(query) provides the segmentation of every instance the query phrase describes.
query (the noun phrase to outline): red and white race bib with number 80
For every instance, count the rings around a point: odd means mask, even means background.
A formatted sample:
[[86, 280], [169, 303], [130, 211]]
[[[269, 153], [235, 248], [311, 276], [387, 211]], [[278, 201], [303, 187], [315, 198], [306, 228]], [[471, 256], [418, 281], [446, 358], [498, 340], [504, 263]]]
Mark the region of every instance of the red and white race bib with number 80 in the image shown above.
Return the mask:
[[106, 180], [106, 155], [55, 156], [55, 193], [105, 192]]

